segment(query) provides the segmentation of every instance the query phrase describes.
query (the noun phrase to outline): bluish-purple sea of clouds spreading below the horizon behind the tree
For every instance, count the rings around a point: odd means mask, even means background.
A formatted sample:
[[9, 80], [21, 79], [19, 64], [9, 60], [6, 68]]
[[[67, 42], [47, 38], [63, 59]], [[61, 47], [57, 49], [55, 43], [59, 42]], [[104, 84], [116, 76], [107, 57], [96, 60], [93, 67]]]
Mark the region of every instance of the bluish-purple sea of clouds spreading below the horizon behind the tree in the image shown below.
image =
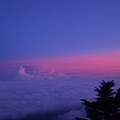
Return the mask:
[[[56, 115], [55, 120], [85, 117], [80, 99], [93, 100], [101, 80], [7, 80], [0, 81], [0, 120], [28, 115]], [[115, 83], [120, 87], [119, 80]], [[41, 120], [50, 120], [44, 118]]]

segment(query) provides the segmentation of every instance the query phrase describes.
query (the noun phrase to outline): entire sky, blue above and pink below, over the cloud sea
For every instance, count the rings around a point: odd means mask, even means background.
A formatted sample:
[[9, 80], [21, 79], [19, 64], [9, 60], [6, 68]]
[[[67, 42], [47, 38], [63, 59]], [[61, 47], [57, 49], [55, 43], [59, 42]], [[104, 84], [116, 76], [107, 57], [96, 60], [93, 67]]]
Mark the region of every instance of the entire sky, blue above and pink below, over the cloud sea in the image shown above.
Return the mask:
[[0, 76], [120, 78], [119, 0], [0, 0]]

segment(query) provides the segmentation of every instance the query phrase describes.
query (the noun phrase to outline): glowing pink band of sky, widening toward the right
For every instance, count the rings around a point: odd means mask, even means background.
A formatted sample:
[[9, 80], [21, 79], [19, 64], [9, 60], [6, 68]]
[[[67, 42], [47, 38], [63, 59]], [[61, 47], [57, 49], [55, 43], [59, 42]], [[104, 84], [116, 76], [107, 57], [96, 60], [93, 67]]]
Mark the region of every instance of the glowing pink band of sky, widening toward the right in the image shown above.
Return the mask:
[[34, 74], [42, 72], [78, 75], [89, 77], [95, 75], [120, 75], [120, 51], [91, 53], [54, 58], [36, 58], [0, 62], [0, 73], [14, 72], [20, 66], [30, 66]]

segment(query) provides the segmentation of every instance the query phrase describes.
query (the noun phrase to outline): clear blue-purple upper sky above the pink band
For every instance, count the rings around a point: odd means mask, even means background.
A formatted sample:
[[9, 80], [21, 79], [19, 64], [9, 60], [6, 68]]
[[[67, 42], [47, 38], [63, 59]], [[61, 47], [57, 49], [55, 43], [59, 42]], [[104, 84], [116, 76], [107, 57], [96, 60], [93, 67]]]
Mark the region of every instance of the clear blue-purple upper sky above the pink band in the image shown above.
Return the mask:
[[81, 58], [94, 53], [101, 53], [103, 60], [104, 53], [120, 51], [119, 14], [119, 0], [0, 0], [0, 73], [6, 62], [15, 60]]

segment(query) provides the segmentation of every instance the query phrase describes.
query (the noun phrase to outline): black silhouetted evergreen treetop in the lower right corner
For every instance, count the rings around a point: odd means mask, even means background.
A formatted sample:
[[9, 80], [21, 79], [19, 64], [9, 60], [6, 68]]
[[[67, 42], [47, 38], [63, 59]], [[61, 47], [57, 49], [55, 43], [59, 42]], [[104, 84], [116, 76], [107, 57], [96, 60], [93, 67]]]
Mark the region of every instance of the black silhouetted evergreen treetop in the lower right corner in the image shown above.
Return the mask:
[[[85, 105], [87, 118], [91, 120], [120, 120], [120, 88], [115, 92], [114, 81], [100, 82], [95, 88], [97, 92], [95, 101], [89, 102], [81, 99]], [[79, 120], [79, 119], [78, 119]]]

